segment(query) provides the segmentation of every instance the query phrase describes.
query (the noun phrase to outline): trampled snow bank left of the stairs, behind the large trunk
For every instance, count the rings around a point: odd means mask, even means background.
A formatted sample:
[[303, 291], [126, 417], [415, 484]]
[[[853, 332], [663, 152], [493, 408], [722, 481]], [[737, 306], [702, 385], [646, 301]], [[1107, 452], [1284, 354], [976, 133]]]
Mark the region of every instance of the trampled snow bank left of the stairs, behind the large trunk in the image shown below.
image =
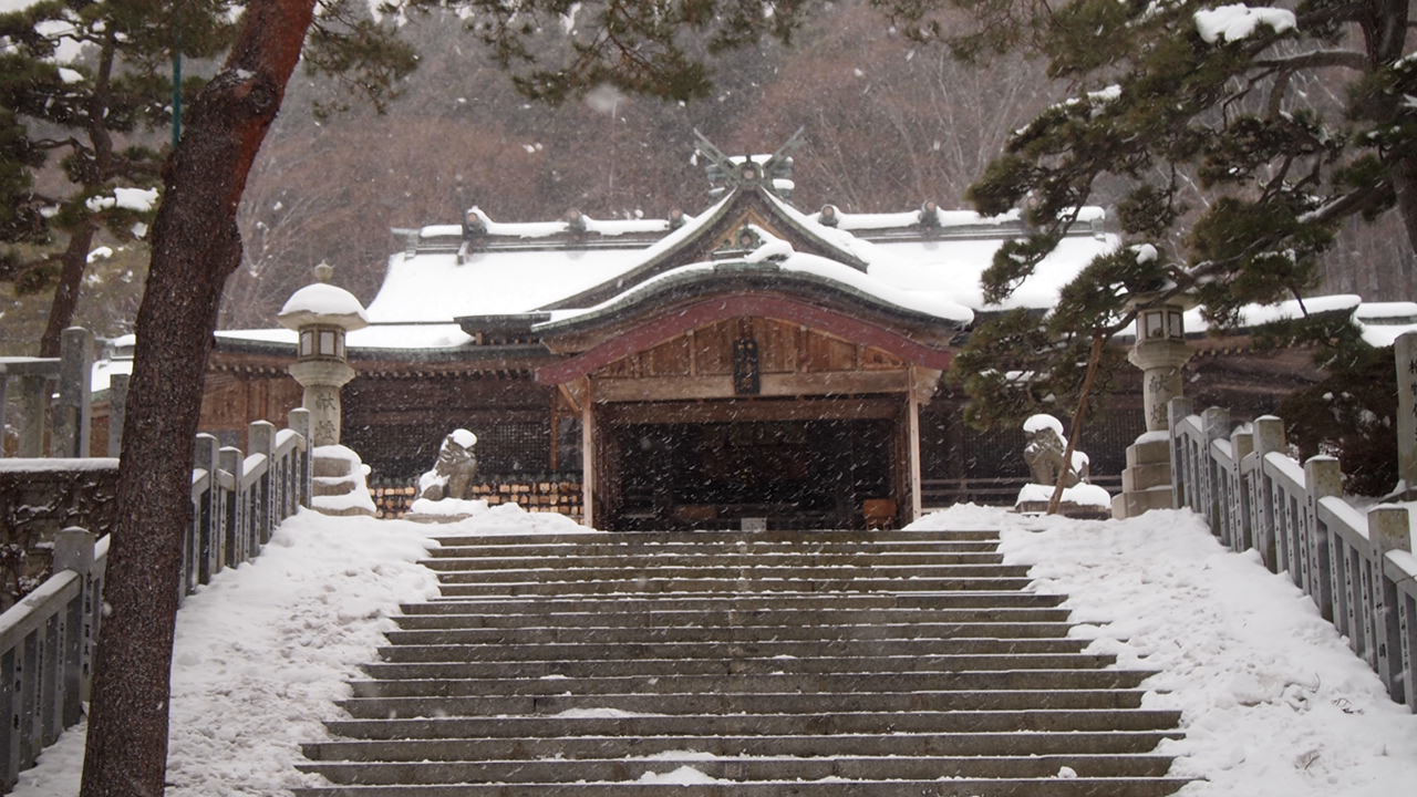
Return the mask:
[[[427, 526], [303, 511], [261, 556], [190, 596], [177, 617], [167, 797], [285, 794], [302, 742], [344, 712], [344, 684], [371, 661], [400, 603], [436, 594], [415, 563]], [[78, 793], [84, 725], [20, 773], [14, 797]]]

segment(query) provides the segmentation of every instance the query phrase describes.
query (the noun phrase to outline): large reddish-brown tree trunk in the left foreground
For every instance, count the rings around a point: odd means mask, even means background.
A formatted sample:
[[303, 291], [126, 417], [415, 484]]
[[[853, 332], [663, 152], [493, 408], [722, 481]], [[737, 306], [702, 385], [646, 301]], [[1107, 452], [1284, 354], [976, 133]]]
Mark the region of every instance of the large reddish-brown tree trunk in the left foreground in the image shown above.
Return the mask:
[[231, 55], [164, 167], [123, 428], [82, 797], [160, 797], [169, 675], [191, 523], [193, 435], [237, 206], [299, 61], [315, 0], [251, 0]]

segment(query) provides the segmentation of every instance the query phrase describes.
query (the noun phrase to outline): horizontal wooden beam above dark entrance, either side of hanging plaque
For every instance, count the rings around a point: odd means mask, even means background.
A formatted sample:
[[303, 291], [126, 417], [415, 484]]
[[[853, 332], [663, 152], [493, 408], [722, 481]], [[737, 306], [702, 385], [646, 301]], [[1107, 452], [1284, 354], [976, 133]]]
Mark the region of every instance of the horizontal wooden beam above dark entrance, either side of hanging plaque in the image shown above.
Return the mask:
[[[758, 394], [767, 397], [905, 393], [911, 386], [905, 370], [765, 373], [761, 379]], [[606, 379], [597, 384], [595, 400], [602, 403], [734, 397], [733, 377], [727, 374]]]

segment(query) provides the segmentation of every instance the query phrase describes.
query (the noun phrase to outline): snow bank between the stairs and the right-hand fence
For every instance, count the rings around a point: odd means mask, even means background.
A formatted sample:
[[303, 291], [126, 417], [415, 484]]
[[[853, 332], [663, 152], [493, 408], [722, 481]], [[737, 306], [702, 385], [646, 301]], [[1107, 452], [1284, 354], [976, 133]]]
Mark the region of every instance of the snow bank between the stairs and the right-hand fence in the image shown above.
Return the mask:
[[[992, 523], [990, 523], [992, 520]], [[1005, 562], [1070, 596], [1074, 635], [1161, 669], [1144, 705], [1180, 709], [1180, 797], [1387, 797], [1417, 783], [1417, 716], [1285, 576], [1223, 549], [1189, 512], [1129, 520], [959, 506], [911, 529], [1002, 528]], [[1030, 533], [1039, 532], [1039, 533]]]

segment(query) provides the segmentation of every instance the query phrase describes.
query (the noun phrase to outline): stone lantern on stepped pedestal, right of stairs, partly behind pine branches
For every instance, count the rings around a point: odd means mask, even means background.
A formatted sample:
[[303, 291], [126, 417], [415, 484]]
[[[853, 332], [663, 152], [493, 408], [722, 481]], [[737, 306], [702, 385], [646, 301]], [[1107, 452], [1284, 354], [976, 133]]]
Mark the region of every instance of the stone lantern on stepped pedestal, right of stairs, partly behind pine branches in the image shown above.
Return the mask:
[[1136, 343], [1128, 362], [1142, 370], [1146, 434], [1127, 447], [1122, 494], [1112, 498], [1114, 518], [1135, 518], [1148, 509], [1169, 509], [1170, 435], [1166, 406], [1182, 394], [1183, 372], [1192, 350], [1186, 345], [1180, 302], [1144, 305], [1136, 315]]

